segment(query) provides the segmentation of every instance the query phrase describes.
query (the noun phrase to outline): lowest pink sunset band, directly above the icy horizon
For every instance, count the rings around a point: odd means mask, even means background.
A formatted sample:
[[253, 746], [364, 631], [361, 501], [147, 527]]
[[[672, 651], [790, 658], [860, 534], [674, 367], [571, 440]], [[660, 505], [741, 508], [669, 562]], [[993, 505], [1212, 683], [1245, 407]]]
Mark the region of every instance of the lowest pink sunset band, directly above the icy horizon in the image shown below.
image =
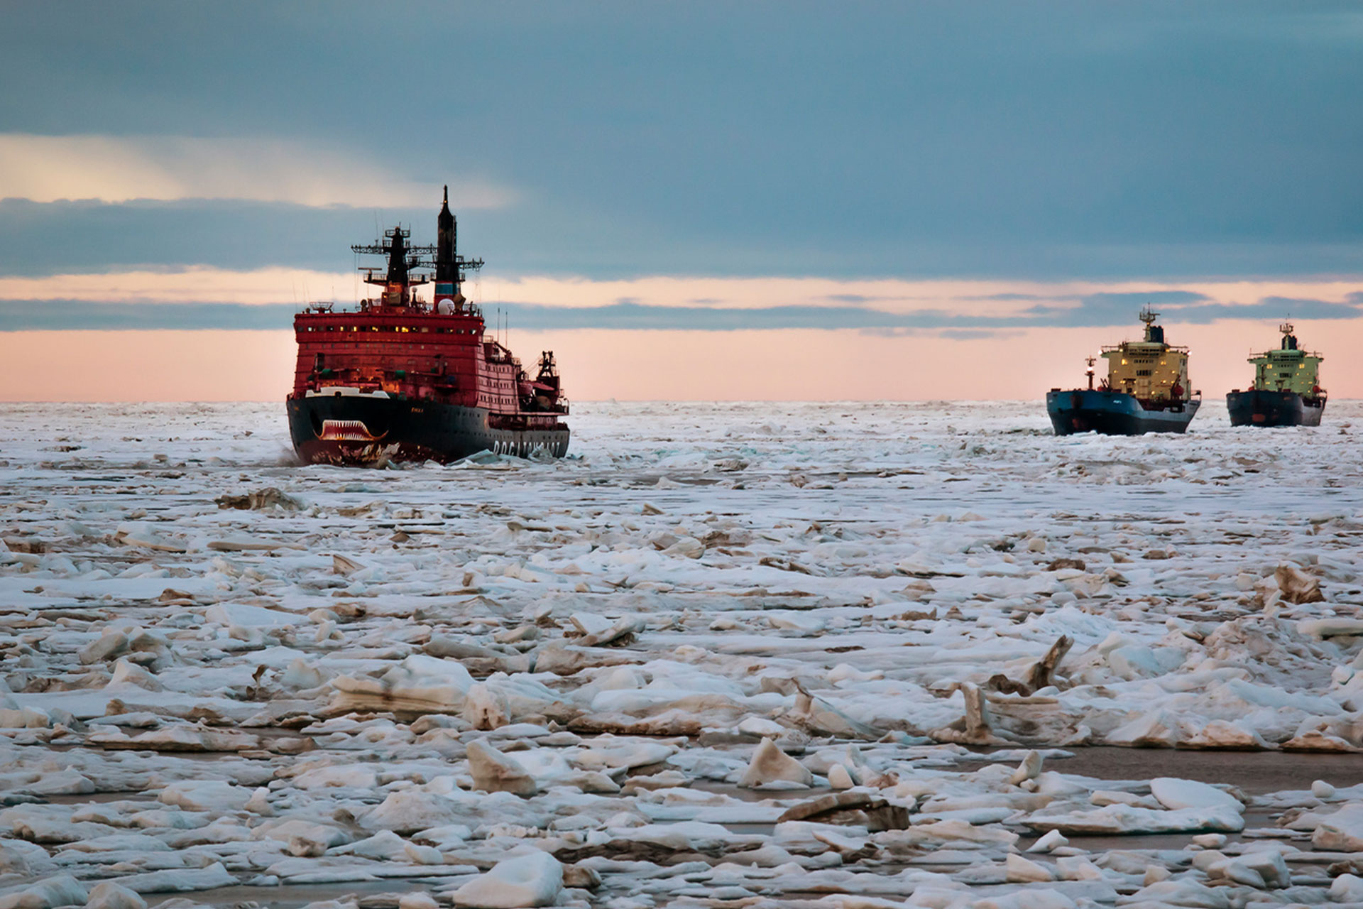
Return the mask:
[[[856, 330], [632, 331], [512, 328], [523, 358], [556, 352], [578, 401], [1035, 399], [1084, 382], [1084, 357], [1134, 328], [1029, 328], [955, 339]], [[1363, 369], [1344, 352], [1363, 343], [1351, 320], [1299, 326], [1325, 353], [1336, 398], [1363, 397]], [[1193, 349], [1206, 398], [1243, 387], [1251, 350], [1274, 346], [1276, 324], [1168, 326]], [[1336, 353], [1337, 352], [1337, 353]], [[293, 378], [292, 331], [25, 331], [0, 334], [7, 401], [273, 401]]]

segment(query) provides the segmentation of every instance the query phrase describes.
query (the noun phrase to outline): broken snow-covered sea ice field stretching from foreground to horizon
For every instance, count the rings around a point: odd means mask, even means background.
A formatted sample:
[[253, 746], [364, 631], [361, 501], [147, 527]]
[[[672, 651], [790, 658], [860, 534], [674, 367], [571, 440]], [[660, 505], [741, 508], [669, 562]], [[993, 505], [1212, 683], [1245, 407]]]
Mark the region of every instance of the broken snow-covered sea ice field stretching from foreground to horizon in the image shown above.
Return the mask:
[[1363, 901], [1363, 405], [571, 424], [0, 409], [0, 908]]

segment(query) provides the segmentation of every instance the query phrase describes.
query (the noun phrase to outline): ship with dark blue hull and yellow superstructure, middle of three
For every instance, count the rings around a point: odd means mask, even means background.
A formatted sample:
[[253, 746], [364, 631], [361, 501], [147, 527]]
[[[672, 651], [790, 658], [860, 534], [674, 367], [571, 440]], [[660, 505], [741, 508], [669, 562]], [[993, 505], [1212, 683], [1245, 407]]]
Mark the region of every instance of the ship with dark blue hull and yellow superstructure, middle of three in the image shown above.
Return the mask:
[[1202, 392], [1189, 383], [1189, 349], [1164, 341], [1154, 324], [1160, 313], [1141, 309], [1142, 341], [1104, 346], [1108, 373], [1093, 387], [1093, 357], [1088, 358], [1088, 388], [1051, 388], [1045, 409], [1055, 435], [1101, 432], [1138, 436], [1146, 432], [1183, 432], [1197, 416]]

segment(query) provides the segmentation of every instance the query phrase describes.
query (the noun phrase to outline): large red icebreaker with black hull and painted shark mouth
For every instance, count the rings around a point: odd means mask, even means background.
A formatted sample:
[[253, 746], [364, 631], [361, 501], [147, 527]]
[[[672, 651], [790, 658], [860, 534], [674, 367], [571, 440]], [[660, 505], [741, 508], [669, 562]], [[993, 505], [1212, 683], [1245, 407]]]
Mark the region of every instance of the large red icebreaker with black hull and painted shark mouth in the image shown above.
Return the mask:
[[[458, 253], [450, 191], [436, 218], [436, 244], [414, 247], [401, 225], [360, 255], [382, 290], [352, 311], [309, 304], [293, 319], [298, 358], [286, 399], [293, 448], [305, 463], [447, 463], [480, 451], [563, 457], [568, 427], [553, 352], [534, 375], [496, 338], [465, 298], [481, 259]], [[379, 273], [378, 275], [375, 273]], [[429, 298], [420, 285], [431, 283]]]

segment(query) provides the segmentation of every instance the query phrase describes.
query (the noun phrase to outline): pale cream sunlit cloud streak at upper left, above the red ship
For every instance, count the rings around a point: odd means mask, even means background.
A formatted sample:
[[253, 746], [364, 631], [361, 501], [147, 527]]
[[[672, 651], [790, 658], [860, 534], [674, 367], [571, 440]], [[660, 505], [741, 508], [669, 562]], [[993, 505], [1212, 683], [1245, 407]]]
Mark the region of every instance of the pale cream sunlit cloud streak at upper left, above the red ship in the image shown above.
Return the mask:
[[[401, 161], [401, 158], [399, 158]], [[451, 184], [463, 209], [496, 209], [512, 194]], [[303, 206], [425, 206], [440, 187], [320, 142], [267, 138], [0, 134], [0, 199], [249, 199]]]

